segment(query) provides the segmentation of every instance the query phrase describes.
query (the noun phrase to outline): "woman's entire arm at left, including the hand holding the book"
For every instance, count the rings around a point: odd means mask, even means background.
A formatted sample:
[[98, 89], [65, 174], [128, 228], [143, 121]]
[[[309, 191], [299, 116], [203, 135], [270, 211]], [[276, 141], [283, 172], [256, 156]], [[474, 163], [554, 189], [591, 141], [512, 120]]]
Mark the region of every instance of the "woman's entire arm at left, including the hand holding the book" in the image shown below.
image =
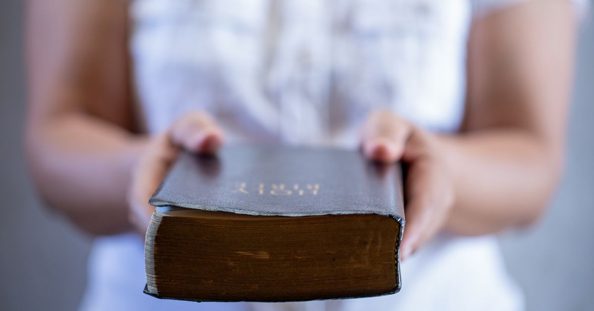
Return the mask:
[[147, 201], [178, 146], [213, 152], [223, 137], [203, 113], [159, 136], [134, 133], [127, 5], [27, 2], [30, 171], [49, 206], [94, 234], [146, 230]]

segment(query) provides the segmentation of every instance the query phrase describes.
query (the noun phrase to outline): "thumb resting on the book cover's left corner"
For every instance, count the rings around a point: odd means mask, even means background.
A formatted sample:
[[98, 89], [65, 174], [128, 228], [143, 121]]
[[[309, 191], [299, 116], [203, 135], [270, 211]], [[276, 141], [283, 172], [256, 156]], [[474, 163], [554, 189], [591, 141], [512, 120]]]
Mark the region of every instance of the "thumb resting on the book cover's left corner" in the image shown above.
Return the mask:
[[212, 154], [223, 145], [225, 134], [207, 114], [191, 113], [173, 124], [170, 137], [175, 145], [186, 150]]

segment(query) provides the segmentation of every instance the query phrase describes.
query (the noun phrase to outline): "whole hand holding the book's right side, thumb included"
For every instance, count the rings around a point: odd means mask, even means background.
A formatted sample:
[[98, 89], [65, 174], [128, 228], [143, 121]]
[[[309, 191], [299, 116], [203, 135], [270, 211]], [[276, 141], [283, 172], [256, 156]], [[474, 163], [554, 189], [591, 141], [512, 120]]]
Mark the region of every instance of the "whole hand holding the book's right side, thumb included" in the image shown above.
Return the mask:
[[362, 128], [366, 158], [409, 165], [405, 182], [405, 233], [401, 258], [406, 258], [443, 229], [454, 203], [453, 181], [436, 138], [388, 110], [369, 114]]

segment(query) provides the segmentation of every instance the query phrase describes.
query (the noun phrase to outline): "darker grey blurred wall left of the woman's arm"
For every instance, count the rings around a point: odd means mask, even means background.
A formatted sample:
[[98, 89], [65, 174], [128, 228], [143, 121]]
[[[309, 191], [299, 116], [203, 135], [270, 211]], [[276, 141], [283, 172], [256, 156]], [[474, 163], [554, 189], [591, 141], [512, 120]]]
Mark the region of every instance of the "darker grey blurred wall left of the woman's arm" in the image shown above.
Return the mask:
[[0, 4], [0, 309], [75, 310], [91, 240], [42, 207], [27, 177], [23, 2]]

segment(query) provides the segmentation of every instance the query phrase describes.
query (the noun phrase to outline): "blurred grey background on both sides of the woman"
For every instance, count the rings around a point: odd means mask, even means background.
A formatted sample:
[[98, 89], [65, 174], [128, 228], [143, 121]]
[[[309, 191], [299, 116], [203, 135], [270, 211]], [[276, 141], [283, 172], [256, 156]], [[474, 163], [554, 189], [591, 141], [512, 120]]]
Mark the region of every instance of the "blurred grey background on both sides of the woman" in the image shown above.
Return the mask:
[[[27, 177], [23, 1], [0, 5], [0, 309], [75, 310], [91, 238], [43, 207]], [[527, 310], [594, 308], [594, 23], [582, 24], [565, 174], [539, 225], [501, 236]]]

